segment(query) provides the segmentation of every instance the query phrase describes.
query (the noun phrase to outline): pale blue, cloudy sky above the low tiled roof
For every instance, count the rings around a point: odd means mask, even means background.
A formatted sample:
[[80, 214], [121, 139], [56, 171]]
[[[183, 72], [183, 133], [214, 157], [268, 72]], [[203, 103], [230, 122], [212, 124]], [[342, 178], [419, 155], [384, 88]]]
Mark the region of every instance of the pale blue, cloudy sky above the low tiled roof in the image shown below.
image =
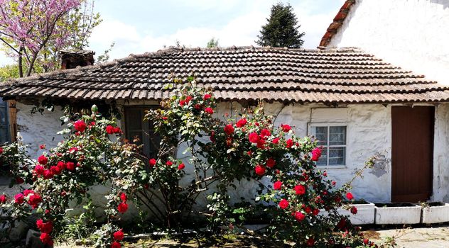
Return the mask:
[[[345, 0], [283, 0], [301, 24], [305, 48], [315, 48]], [[102, 23], [90, 47], [102, 55], [114, 43], [111, 60], [180, 45], [221, 47], [256, 45], [261, 26], [278, 0], [95, 0]], [[0, 65], [13, 61], [0, 54]]]

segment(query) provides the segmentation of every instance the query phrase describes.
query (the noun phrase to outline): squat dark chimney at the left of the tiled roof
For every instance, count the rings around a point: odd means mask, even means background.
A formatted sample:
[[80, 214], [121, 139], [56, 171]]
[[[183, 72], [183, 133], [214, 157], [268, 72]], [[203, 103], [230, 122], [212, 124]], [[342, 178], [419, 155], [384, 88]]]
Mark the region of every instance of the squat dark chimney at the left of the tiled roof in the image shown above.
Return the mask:
[[94, 51], [90, 50], [62, 50], [61, 69], [72, 69], [94, 64]]

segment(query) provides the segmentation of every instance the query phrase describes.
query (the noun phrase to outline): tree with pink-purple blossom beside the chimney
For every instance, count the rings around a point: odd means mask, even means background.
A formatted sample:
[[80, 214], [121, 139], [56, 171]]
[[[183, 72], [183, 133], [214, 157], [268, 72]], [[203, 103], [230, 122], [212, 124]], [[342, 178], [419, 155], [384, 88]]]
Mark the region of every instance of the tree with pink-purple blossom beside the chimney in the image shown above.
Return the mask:
[[0, 13], [0, 41], [17, 58], [19, 77], [36, 72], [36, 64], [55, 69], [58, 52], [87, 45], [101, 21], [88, 0], [0, 0]]

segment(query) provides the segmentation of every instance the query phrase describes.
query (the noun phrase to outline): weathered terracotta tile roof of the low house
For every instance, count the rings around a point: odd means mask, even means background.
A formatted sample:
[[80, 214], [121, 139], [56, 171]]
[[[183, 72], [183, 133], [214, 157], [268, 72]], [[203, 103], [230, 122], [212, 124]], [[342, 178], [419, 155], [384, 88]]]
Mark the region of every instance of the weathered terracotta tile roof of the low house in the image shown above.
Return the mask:
[[10, 81], [1, 96], [161, 99], [168, 76], [198, 76], [220, 100], [298, 103], [449, 101], [449, 87], [406, 72], [355, 48], [170, 48], [90, 67]]

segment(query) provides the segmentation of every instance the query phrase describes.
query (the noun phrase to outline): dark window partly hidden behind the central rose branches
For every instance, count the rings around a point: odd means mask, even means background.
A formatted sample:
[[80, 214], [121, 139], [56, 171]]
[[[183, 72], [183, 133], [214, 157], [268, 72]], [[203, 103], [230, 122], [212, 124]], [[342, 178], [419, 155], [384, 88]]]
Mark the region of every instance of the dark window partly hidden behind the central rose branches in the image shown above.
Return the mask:
[[154, 134], [153, 123], [144, 121], [145, 111], [151, 107], [126, 107], [125, 128], [126, 139], [133, 142], [139, 138], [138, 145], [144, 145], [142, 152], [148, 157], [156, 157], [158, 153], [160, 137]]

